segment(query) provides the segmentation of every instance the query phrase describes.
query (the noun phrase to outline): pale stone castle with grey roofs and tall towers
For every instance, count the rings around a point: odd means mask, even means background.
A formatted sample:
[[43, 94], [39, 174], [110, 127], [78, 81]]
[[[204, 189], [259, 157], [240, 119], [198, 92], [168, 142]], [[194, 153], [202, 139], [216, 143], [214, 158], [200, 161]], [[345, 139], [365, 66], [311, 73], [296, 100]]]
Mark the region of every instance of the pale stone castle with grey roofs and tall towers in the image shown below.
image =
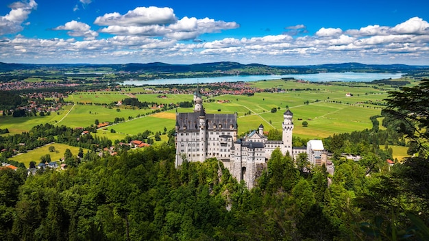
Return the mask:
[[[182, 165], [184, 160], [204, 162], [215, 157], [223, 162], [238, 181], [244, 180], [248, 188], [253, 188], [257, 173], [265, 168], [275, 149], [292, 157], [307, 153], [310, 164], [326, 163], [326, 154], [322, 158], [323, 144], [320, 140], [310, 141], [310, 149], [292, 147], [293, 114], [290, 110], [283, 114], [282, 140], [268, 140], [262, 124], [258, 131], [237, 138], [237, 114], [206, 114], [202, 102], [197, 87], [193, 98], [194, 111], [176, 113], [176, 167]], [[312, 149], [312, 146], [317, 147], [317, 150]]]

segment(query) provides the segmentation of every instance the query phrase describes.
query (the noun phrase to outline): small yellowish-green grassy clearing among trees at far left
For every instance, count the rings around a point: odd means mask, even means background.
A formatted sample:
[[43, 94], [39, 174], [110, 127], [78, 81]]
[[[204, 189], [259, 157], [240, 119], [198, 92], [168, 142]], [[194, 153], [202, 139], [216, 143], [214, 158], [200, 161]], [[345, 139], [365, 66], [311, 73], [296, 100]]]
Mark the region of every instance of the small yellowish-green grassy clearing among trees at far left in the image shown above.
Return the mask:
[[[49, 147], [51, 147], [51, 146], [55, 147], [56, 151], [49, 152]], [[40, 163], [40, 157], [42, 157], [42, 155], [46, 155], [46, 154], [51, 155], [51, 160], [53, 162], [61, 160], [61, 158], [64, 157], [64, 153], [65, 153], [66, 149], [70, 149], [70, 151], [73, 155], [77, 155], [77, 153], [79, 153], [79, 147], [71, 147], [71, 146], [66, 145], [66, 144], [53, 143], [53, 144], [47, 144], [44, 147], [40, 147], [40, 148], [34, 149], [32, 151], [28, 151], [27, 153], [23, 153], [21, 155], [16, 155], [15, 157], [9, 158], [9, 160], [21, 162], [21, 163], [25, 164], [25, 166], [28, 168], [30, 162], [34, 161], [38, 164], [38, 163]], [[84, 153], [86, 153], [87, 151], [89, 151], [89, 150], [84, 149]]]

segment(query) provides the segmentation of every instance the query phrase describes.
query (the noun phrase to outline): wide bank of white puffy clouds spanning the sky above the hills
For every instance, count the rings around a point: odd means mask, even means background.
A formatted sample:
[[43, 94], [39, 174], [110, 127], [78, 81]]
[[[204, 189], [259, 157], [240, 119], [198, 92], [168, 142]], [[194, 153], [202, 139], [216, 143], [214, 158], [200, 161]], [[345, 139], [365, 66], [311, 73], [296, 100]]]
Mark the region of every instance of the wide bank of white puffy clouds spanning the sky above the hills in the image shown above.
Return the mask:
[[[151, 14], [149, 14], [151, 13]], [[136, 8], [127, 14], [97, 18], [98, 39], [90, 25], [70, 21], [53, 28], [73, 38], [37, 39], [16, 36], [0, 40], [0, 58], [9, 62], [260, 62], [315, 64], [317, 62], [429, 63], [428, 22], [415, 17], [393, 26], [358, 29], [320, 28], [309, 34], [305, 25], [285, 27], [283, 34], [203, 41], [201, 34], [234, 29], [238, 23], [212, 18], [177, 18], [169, 8]], [[299, 34], [292, 34], [293, 32]], [[84, 40], [82, 38], [84, 37]], [[193, 40], [193, 41], [182, 41]]]

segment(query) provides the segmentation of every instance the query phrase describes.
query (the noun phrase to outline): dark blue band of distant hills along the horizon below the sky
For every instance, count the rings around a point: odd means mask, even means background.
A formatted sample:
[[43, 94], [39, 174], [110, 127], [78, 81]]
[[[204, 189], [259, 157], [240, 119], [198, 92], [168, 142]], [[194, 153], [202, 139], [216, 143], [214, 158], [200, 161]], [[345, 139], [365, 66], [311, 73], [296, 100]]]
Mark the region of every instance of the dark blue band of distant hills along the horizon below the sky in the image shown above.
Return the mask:
[[258, 75], [321, 72], [402, 72], [428, 69], [429, 66], [406, 64], [317, 64], [306, 66], [268, 66], [264, 64], [240, 64], [237, 62], [213, 62], [204, 64], [165, 64], [154, 62], [147, 64], [8, 64], [0, 62], [0, 72], [10, 71], [58, 71], [61, 73], [222, 73], [225, 75]]

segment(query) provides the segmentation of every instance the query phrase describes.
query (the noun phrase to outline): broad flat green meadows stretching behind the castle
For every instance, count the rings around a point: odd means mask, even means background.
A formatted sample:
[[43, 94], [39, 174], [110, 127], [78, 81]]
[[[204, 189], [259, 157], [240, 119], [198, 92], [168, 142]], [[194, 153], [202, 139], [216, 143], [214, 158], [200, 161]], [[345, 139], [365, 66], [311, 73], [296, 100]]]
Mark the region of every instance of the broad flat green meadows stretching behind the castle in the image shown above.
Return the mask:
[[[381, 112], [380, 103], [388, 97], [387, 91], [394, 90], [390, 86], [378, 86], [365, 83], [301, 83], [297, 81], [255, 81], [255, 88], [283, 88], [284, 92], [260, 92], [253, 96], [225, 94], [212, 97], [209, 101], [204, 97], [207, 113], [224, 113], [238, 115], [238, 134], [243, 134], [264, 125], [265, 131], [281, 129], [283, 113], [289, 109], [293, 112], [293, 133], [302, 138], [326, 138], [333, 134], [351, 132], [371, 128], [370, 116]], [[204, 86], [203, 86], [204, 88]], [[77, 92], [70, 94], [66, 101], [75, 103], [112, 103], [129, 97], [139, 101], [155, 103], [179, 103], [193, 101], [192, 94], [144, 94], [145, 88], [123, 88], [121, 92], [98, 91]], [[346, 97], [347, 93], [352, 97]], [[223, 101], [221, 103], [219, 101]], [[275, 108], [276, 112], [271, 113]], [[51, 123], [69, 127], [87, 127], [99, 123], [113, 122], [114, 118], [125, 118], [126, 122], [100, 129], [97, 134], [110, 140], [123, 139], [147, 129], [163, 132], [175, 127], [175, 112], [192, 112], [193, 108], [177, 108], [167, 112], [151, 114], [151, 109], [132, 109], [127, 106], [108, 108], [103, 105], [67, 105], [58, 113], [50, 116], [33, 116], [13, 118], [0, 116], [0, 128], [8, 128], [11, 134], [28, 131], [34, 125]], [[148, 114], [150, 114], [148, 116]], [[143, 116], [136, 118], [136, 116]], [[132, 118], [130, 118], [132, 117]], [[128, 121], [130, 120], [130, 121]], [[307, 127], [302, 122], [308, 123]], [[111, 133], [114, 129], [116, 133]]]

